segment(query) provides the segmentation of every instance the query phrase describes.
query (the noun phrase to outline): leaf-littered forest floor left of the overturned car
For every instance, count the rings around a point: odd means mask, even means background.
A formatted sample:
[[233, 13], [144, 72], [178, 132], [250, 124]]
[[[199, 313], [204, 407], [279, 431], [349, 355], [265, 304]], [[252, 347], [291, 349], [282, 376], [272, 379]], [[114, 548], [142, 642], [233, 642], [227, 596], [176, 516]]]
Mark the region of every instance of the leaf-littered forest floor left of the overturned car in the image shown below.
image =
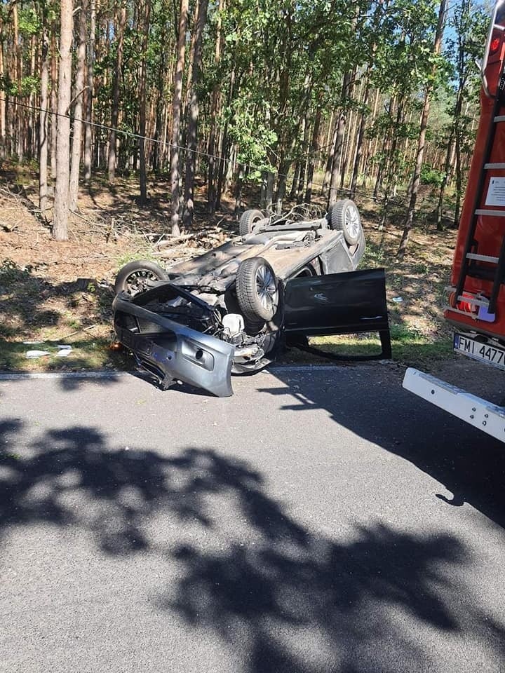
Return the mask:
[[[147, 208], [132, 185], [114, 188], [95, 179], [81, 190], [79, 213], [69, 219], [69, 240], [56, 242], [36, 210], [34, 176], [11, 167], [0, 172], [0, 369], [113, 367], [112, 299], [116, 273], [133, 259], [161, 266], [201, 254], [234, 233], [233, 218], [198, 212], [194, 228], [179, 239], [166, 236], [168, 185], [159, 184]], [[27, 344], [50, 348], [77, 344], [78, 358], [26, 361]], [[0, 341], [1, 345], [1, 341]], [[4, 351], [4, 353], [2, 353]], [[2, 358], [2, 354], [4, 358]], [[75, 355], [75, 353], [74, 353]]]

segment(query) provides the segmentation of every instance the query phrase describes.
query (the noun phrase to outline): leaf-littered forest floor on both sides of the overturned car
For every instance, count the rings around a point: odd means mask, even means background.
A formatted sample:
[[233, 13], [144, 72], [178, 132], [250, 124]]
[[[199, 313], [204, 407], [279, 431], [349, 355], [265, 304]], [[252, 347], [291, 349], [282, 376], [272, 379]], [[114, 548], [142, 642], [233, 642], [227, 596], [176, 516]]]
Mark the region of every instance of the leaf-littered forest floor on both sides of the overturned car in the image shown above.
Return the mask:
[[[197, 195], [194, 227], [173, 239], [166, 234], [168, 182], [151, 182], [149, 203], [140, 208], [133, 179], [120, 178], [111, 188], [105, 177], [94, 177], [89, 190], [81, 189], [79, 213], [71, 215], [69, 222], [69, 240], [56, 243], [37, 212], [35, 170], [4, 165], [0, 172], [0, 369], [132, 367], [127, 353], [111, 348], [116, 272], [139, 258], [170, 266], [235, 236], [234, 198], [222, 200], [222, 210], [209, 216], [204, 197], [202, 191]], [[257, 193], [244, 190], [244, 198], [241, 210], [257, 207]], [[430, 188], [424, 188], [408, 253], [400, 262], [396, 250], [403, 209], [391, 208], [381, 226], [382, 205], [363, 193], [356, 203], [367, 238], [361, 266], [386, 268], [393, 360], [436, 369], [437, 363], [453, 358], [443, 304], [456, 232], [436, 231], [434, 197]], [[379, 343], [363, 335], [314, 341], [326, 350], [351, 354], [370, 353]], [[71, 356], [56, 357], [58, 344], [72, 345]], [[27, 360], [26, 351], [35, 348], [50, 355]], [[283, 361], [324, 362], [295, 350], [285, 353]]]

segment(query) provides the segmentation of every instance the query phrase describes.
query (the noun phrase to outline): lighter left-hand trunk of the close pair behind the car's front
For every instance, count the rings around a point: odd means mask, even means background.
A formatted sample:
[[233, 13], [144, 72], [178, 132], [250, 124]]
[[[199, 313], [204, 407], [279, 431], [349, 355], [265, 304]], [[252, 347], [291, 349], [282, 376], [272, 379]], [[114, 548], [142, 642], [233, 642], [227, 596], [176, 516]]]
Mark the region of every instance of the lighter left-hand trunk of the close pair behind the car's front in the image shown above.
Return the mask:
[[188, 0], [181, 0], [179, 32], [177, 34], [177, 62], [175, 64], [174, 93], [172, 102], [172, 151], [170, 152], [170, 191], [172, 193], [170, 229], [176, 236], [180, 233], [180, 186], [179, 186], [179, 142], [182, 106], [182, 76], [186, 54], [186, 27]]

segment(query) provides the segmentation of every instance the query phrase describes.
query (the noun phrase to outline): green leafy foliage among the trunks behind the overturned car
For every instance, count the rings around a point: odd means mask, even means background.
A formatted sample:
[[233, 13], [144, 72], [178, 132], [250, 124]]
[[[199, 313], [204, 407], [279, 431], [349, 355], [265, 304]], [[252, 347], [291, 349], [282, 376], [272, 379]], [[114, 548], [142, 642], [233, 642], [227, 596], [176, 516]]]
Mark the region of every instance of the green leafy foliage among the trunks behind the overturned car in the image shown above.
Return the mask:
[[[191, 39], [194, 36], [196, 0], [189, 6], [183, 108], [187, 112], [187, 86]], [[32, 52], [40, 53], [42, 28], [50, 30], [52, 20], [58, 26], [59, 4], [43, 0], [33, 4], [18, 0], [19, 41], [22, 73], [13, 67], [12, 4], [0, 4], [1, 39], [6, 55], [6, 74], [0, 88], [10, 98], [36, 95], [39, 72], [32, 74]], [[108, 125], [112, 109], [112, 85], [117, 50], [118, 8], [100, 4], [93, 62], [93, 111], [98, 123]], [[121, 130], [135, 133], [139, 128], [140, 63], [147, 62], [147, 133], [157, 137], [166, 124], [170, 142], [170, 106], [172, 103], [178, 3], [152, 0], [146, 33], [142, 8], [128, 0], [120, 83]], [[405, 174], [412, 163], [412, 147], [419, 133], [419, 118], [427, 87], [433, 88], [427, 140], [445, 148], [457, 137], [460, 154], [471, 151], [474, 120], [478, 116], [478, 73], [474, 61], [483, 52], [487, 29], [487, 7], [479, 0], [455, 0], [450, 4], [443, 53], [433, 54], [433, 39], [438, 20], [436, 0], [227, 0], [219, 10], [209, 4], [203, 32], [203, 64], [198, 83], [198, 149], [200, 168], [205, 169], [206, 145], [210, 130], [220, 135], [219, 152], [233, 156], [236, 163], [248, 166], [248, 178], [257, 179], [262, 170], [285, 173], [295, 161], [310, 153], [311, 131], [318, 109], [322, 110], [325, 134], [318, 139], [324, 149], [317, 170], [324, 170], [328, 159], [331, 130], [342, 111], [353, 123], [364, 114], [368, 142], [366, 168], [381, 173], [384, 194], [398, 184], [406, 184]], [[77, 15], [76, 15], [77, 18]], [[77, 21], [76, 21], [77, 23]], [[216, 58], [216, 39], [220, 31], [220, 57]], [[58, 27], [57, 27], [58, 32]], [[144, 50], [144, 36], [147, 48]], [[78, 41], [74, 32], [74, 43]], [[38, 60], [37, 60], [38, 62]], [[433, 65], [436, 64], [436, 69]], [[344, 91], [344, 74], [351, 79]], [[55, 83], [52, 83], [54, 86]], [[363, 92], [370, 89], [368, 102]], [[379, 91], [377, 108], [373, 104]], [[213, 93], [219, 93], [217, 111]], [[461, 95], [459, 95], [461, 94]], [[459, 105], [459, 107], [458, 107]], [[373, 118], [371, 111], [375, 111]], [[182, 137], [185, 143], [184, 118]], [[304, 134], [307, 121], [308, 132]], [[11, 124], [12, 125], [12, 124]], [[352, 127], [351, 127], [352, 128]], [[349, 129], [349, 125], [347, 126]], [[107, 128], [95, 128], [95, 152], [104, 161]], [[328, 138], [328, 140], [326, 140]], [[346, 137], [352, 145], [352, 139]], [[12, 143], [13, 145], [15, 142]], [[130, 160], [138, 165], [138, 142], [133, 137], [119, 138], [120, 165]], [[366, 143], [365, 143], [366, 144]], [[147, 144], [149, 146], [149, 143]], [[346, 151], [346, 145], [344, 153]], [[152, 146], [147, 152], [152, 152]], [[370, 156], [375, 151], [375, 156]], [[218, 150], [215, 150], [217, 154]], [[152, 153], [153, 154], [153, 153]], [[366, 154], [366, 156], [365, 156]], [[163, 157], [167, 166], [169, 152]], [[443, 149], [436, 158], [442, 161]], [[319, 157], [318, 157], [319, 158]], [[161, 160], [163, 161], [163, 160]], [[182, 159], [183, 161], [183, 159]], [[154, 165], [154, 160], [153, 160]], [[363, 165], [361, 171], [366, 172]], [[425, 184], [440, 184], [440, 166], [425, 166]]]

